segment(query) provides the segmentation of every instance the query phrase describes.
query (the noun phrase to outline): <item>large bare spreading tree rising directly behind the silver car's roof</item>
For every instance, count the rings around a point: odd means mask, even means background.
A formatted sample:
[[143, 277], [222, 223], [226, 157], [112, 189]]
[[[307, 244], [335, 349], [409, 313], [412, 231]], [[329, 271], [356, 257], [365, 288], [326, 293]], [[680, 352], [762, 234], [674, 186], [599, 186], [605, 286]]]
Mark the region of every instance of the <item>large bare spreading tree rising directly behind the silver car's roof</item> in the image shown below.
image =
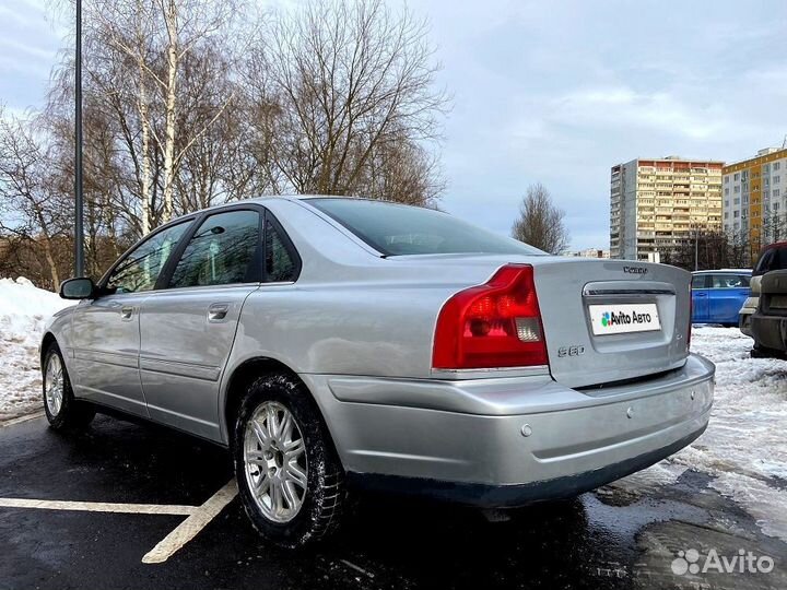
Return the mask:
[[[412, 201], [407, 191], [418, 185], [420, 202], [436, 197], [439, 182], [430, 179], [435, 168], [424, 145], [439, 135], [447, 97], [435, 87], [427, 31], [381, 0], [312, 0], [279, 16], [250, 63], [252, 75], [263, 70], [267, 95], [257, 97], [257, 120], [279, 189]], [[414, 166], [379, 192], [388, 154], [388, 180], [406, 162]], [[413, 175], [420, 175], [414, 185], [407, 181]]]

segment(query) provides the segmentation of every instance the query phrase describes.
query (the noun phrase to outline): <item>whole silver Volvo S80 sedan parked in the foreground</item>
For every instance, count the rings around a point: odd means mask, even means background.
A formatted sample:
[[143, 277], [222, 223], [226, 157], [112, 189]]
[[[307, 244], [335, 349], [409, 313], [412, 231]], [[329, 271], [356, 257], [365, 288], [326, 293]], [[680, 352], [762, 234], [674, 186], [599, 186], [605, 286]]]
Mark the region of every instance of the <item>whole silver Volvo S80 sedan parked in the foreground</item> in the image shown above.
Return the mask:
[[340, 521], [346, 487], [485, 508], [574, 496], [707, 426], [691, 275], [560, 258], [450, 215], [336, 197], [160, 227], [42, 343], [54, 428], [111, 409], [230, 448], [268, 540]]

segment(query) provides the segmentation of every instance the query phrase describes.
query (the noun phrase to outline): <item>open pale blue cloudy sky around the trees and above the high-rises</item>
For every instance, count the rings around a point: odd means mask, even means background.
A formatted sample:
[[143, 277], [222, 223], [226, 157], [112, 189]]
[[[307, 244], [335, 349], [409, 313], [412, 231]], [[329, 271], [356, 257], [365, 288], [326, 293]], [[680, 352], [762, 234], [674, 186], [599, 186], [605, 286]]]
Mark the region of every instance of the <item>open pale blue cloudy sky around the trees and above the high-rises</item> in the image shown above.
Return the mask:
[[[0, 103], [42, 105], [62, 30], [46, 0], [0, 0]], [[411, 0], [453, 94], [442, 206], [508, 233], [527, 186], [609, 247], [609, 169], [732, 162], [787, 134], [787, 2]]]

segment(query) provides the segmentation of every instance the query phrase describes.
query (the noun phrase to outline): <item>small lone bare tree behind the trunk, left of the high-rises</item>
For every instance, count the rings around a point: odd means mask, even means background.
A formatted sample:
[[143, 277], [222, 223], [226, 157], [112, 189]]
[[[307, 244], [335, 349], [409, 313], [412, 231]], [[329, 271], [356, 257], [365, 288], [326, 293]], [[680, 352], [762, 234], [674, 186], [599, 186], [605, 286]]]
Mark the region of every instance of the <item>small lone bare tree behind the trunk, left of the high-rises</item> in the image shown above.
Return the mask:
[[519, 206], [519, 219], [512, 227], [512, 237], [545, 252], [560, 253], [569, 243], [564, 217], [565, 212], [552, 202], [543, 185], [530, 185]]

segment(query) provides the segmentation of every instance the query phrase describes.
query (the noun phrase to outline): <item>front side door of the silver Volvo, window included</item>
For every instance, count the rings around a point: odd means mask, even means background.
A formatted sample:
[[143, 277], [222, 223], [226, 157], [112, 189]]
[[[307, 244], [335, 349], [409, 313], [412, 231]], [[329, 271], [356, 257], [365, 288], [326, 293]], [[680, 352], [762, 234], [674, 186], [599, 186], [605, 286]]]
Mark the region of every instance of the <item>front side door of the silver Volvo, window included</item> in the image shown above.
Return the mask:
[[105, 294], [74, 310], [78, 397], [148, 416], [139, 375], [139, 310], [191, 221], [163, 227], [127, 252], [99, 283]]

